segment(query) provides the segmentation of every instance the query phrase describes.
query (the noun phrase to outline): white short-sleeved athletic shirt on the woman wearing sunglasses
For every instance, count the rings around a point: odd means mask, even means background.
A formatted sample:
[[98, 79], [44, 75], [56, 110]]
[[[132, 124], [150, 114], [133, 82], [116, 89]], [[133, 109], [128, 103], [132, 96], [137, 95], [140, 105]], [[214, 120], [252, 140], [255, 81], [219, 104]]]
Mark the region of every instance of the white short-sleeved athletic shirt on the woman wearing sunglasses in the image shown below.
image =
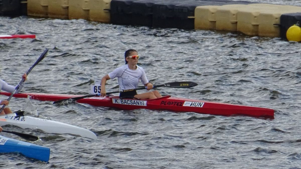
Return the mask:
[[137, 88], [139, 79], [142, 84], [147, 84], [148, 80], [146, 78], [145, 72], [142, 67], [137, 66], [136, 70], [129, 69], [128, 64], [116, 68], [108, 75], [110, 79], [118, 78], [119, 90], [127, 90]]

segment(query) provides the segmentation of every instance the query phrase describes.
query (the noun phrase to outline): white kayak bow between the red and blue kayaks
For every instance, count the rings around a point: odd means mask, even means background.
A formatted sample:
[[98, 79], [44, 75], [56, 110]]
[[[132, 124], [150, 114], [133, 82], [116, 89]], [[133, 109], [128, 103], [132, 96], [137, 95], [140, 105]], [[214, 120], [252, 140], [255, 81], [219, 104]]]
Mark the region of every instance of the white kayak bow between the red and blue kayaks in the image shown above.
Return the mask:
[[17, 116], [16, 113], [0, 115], [0, 126], [11, 124], [20, 128], [39, 129], [46, 133], [72, 134], [96, 140], [96, 135], [87, 129], [57, 121], [32, 116]]

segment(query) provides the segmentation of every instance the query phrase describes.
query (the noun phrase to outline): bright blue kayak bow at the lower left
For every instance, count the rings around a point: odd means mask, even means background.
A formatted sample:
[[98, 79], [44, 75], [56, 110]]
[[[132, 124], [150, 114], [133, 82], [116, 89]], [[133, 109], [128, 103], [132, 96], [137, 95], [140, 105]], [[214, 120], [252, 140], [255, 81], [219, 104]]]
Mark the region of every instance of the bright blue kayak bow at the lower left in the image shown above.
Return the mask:
[[50, 149], [0, 136], [0, 153], [20, 153], [26, 157], [47, 162], [50, 156]]

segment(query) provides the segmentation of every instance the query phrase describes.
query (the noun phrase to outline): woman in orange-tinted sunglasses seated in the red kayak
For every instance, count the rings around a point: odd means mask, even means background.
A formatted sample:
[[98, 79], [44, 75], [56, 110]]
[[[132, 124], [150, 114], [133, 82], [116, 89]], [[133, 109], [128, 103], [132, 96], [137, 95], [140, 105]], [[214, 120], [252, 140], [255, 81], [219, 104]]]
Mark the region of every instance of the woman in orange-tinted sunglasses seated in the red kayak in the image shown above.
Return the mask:
[[[138, 52], [134, 49], [129, 49], [124, 54], [126, 64], [116, 68], [109, 74], [105, 75], [101, 79], [101, 96], [106, 96], [106, 82], [109, 79], [118, 78], [119, 90], [128, 90], [137, 88], [139, 81], [141, 80], [142, 84], [151, 90], [153, 84], [148, 82], [145, 72], [142, 67], [138, 66]], [[151, 91], [147, 93], [137, 94], [134, 91], [121, 92], [119, 94], [120, 98], [138, 98], [138, 99], [156, 99], [162, 97], [158, 91]]]

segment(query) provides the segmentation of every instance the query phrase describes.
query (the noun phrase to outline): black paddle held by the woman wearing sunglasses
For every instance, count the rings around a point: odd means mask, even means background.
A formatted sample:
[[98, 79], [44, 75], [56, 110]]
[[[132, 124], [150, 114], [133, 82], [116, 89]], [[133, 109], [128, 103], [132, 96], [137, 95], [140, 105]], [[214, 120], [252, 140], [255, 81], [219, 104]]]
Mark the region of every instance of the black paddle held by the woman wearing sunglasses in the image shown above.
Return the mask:
[[[180, 82], [171, 82], [171, 83], [165, 83], [165, 84], [159, 84], [159, 85], [154, 85], [153, 88], [158, 88], [158, 87], [169, 87], [169, 88], [191, 88], [196, 86], [197, 84], [191, 81], [180, 81]], [[135, 90], [142, 90], [142, 89], [146, 89], [147, 87], [142, 86], [142, 87], [138, 87], [135, 89], [127, 89], [127, 90], [119, 90], [119, 91], [111, 91], [111, 92], [107, 92], [106, 94], [114, 94], [114, 93], [121, 93], [121, 92], [128, 92], [128, 91], [135, 91]], [[62, 99], [62, 100], [58, 100], [53, 102], [53, 104], [56, 103], [60, 103], [64, 100], [69, 100], [72, 99], [73, 101], [79, 100], [79, 99], [83, 99], [83, 98], [87, 98], [87, 97], [95, 97], [95, 96], [100, 96], [101, 94], [90, 94], [90, 95], [85, 95], [85, 96], [81, 96], [81, 97], [73, 97], [73, 98], [68, 98], [68, 99]]]

